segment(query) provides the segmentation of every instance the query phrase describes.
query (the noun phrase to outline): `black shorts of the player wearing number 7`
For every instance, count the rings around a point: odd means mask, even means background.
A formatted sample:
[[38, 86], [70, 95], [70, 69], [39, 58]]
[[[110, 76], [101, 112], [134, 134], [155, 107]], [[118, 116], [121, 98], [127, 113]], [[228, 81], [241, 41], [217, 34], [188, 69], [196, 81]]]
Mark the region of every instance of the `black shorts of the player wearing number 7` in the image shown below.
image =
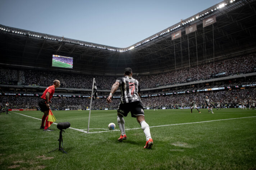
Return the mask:
[[131, 103], [119, 103], [117, 112], [120, 115], [127, 116], [131, 112], [132, 117], [144, 116], [144, 108], [140, 101], [131, 102]]

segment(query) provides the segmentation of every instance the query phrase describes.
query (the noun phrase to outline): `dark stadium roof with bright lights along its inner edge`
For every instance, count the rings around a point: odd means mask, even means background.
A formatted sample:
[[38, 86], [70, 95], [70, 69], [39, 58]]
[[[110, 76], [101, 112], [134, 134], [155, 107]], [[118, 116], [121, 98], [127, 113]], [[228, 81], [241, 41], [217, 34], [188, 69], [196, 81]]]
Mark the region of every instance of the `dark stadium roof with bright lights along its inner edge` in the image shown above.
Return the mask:
[[[203, 20], [214, 15], [217, 22], [203, 28]], [[73, 57], [72, 71], [85, 74], [122, 74], [125, 67], [138, 74], [186, 69], [255, 52], [255, 20], [255, 0], [225, 0], [127, 48], [0, 25], [0, 63], [51, 69], [56, 54]], [[193, 24], [197, 31], [186, 35]], [[177, 31], [182, 37], [172, 40]]]

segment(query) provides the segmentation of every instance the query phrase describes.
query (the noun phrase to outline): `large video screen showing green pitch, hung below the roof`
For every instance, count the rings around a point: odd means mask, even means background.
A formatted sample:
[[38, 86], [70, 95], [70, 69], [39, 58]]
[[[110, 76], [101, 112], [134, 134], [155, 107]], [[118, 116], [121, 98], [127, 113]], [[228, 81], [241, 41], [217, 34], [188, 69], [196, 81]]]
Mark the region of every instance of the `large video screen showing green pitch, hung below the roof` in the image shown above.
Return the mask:
[[73, 68], [73, 57], [52, 55], [52, 67]]

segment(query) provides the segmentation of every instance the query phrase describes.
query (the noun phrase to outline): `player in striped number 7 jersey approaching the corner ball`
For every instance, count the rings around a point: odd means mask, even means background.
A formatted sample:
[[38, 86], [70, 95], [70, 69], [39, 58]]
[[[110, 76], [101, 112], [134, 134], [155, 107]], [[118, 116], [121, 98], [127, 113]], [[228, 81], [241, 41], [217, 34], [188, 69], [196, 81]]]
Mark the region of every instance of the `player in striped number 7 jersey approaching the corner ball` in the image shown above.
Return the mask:
[[120, 86], [121, 89], [121, 100], [117, 108], [117, 123], [121, 131], [121, 136], [118, 141], [126, 140], [127, 136], [124, 129], [124, 116], [126, 117], [129, 112], [131, 112], [132, 117], [136, 117], [138, 123], [140, 123], [141, 128], [146, 136], [146, 145], [144, 148], [151, 148], [153, 145], [153, 140], [150, 135], [150, 128], [145, 121], [144, 108], [141, 103], [140, 98], [140, 84], [139, 82], [132, 78], [132, 69], [124, 69], [124, 77], [116, 79], [113, 84], [110, 94], [107, 98], [107, 102], [112, 102], [112, 96]]

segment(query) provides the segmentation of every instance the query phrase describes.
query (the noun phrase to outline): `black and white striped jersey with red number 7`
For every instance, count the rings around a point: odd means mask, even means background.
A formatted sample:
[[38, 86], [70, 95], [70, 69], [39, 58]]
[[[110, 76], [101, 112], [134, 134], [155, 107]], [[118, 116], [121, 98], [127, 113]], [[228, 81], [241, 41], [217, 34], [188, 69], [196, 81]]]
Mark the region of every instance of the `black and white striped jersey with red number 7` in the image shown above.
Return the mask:
[[140, 84], [136, 79], [125, 76], [119, 77], [116, 79], [116, 82], [120, 83], [119, 86], [122, 94], [121, 103], [141, 102], [141, 98], [138, 95], [141, 91]]

